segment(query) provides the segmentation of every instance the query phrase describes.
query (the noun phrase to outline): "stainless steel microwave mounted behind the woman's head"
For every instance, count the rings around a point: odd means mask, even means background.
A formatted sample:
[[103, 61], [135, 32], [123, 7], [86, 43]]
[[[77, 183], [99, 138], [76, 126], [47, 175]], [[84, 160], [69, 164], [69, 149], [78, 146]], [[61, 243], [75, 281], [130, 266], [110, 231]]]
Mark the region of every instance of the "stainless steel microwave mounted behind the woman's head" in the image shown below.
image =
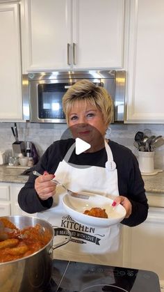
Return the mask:
[[104, 86], [113, 99], [113, 123], [124, 121], [125, 78], [124, 70], [31, 72], [23, 76], [24, 119], [31, 123], [66, 123], [63, 95], [75, 82], [89, 79]]

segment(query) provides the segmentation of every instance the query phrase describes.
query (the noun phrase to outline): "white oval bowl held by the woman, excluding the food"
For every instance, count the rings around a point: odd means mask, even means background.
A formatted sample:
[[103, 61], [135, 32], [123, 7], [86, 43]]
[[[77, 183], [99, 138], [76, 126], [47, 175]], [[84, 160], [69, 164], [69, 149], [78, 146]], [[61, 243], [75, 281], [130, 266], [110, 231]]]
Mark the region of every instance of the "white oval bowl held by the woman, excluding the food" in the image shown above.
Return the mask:
[[[83, 194], [89, 194], [90, 198], [79, 199], [72, 197], [70, 194], [65, 194], [63, 197], [63, 206], [74, 221], [87, 226], [105, 228], [117, 224], [124, 219], [126, 210], [122, 205], [119, 204], [113, 208], [113, 206], [111, 206], [113, 200], [108, 197], [84, 192]], [[108, 218], [99, 218], [83, 214], [85, 210], [90, 210], [95, 207], [106, 209]]]

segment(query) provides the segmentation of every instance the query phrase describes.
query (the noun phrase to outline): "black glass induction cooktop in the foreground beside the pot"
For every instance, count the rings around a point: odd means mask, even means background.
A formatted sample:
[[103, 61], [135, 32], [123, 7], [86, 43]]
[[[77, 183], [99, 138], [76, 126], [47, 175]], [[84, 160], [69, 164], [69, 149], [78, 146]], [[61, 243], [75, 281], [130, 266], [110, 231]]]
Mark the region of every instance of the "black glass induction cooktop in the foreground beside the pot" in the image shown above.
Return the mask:
[[158, 275], [148, 270], [54, 259], [49, 291], [161, 292], [161, 289]]

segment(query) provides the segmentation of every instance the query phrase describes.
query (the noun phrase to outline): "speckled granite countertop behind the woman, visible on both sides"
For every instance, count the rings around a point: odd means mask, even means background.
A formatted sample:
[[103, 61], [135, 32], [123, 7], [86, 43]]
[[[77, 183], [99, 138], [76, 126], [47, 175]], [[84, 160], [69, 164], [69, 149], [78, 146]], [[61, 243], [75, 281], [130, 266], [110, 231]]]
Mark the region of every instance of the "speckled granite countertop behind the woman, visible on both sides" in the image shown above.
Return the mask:
[[[20, 176], [25, 169], [15, 167], [8, 168], [6, 165], [0, 165], [1, 183], [26, 183], [28, 176]], [[142, 176], [145, 182], [146, 192], [155, 192], [164, 194], [164, 171], [154, 176]]]

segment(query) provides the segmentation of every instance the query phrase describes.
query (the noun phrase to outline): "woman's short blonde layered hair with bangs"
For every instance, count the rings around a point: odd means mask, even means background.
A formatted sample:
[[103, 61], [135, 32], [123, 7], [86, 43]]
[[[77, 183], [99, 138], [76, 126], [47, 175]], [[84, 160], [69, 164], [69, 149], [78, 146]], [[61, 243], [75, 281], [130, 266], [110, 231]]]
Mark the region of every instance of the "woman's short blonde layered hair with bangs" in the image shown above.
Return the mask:
[[67, 123], [69, 122], [69, 112], [76, 101], [85, 100], [90, 102], [101, 111], [104, 123], [109, 125], [113, 118], [113, 100], [104, 87], [96, 86], [88, 79], [82, 79], [72, 85], [65, 95], [63, 95], [63, 112]]

